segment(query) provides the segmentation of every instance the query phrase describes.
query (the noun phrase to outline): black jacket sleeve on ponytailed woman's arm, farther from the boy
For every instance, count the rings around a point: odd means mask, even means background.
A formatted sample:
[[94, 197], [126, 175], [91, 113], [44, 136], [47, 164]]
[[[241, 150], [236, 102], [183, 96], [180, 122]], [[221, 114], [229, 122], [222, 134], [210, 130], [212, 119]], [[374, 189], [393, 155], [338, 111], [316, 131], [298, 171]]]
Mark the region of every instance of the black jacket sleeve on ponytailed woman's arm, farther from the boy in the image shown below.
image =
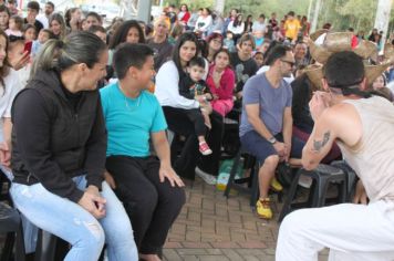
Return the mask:
[[13, 132], [27, 169], [49, 191], [77, 202], [83, 191], [53, 160], [50, 149], [51, 114], [35, 90], [24, 90], [13, 103]]

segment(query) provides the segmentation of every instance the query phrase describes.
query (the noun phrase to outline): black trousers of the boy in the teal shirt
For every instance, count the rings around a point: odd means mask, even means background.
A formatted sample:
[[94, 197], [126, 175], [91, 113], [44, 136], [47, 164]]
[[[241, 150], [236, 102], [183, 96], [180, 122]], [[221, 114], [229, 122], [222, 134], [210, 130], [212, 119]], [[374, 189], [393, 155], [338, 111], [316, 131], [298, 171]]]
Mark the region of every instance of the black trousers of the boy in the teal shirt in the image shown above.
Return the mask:
[[186, 201], [184, 189], [159, 181], [156, 157], [111, 156], [105, 166], [115, 179], [115, 194], [132, 221], [139, 252], [158, 253]]

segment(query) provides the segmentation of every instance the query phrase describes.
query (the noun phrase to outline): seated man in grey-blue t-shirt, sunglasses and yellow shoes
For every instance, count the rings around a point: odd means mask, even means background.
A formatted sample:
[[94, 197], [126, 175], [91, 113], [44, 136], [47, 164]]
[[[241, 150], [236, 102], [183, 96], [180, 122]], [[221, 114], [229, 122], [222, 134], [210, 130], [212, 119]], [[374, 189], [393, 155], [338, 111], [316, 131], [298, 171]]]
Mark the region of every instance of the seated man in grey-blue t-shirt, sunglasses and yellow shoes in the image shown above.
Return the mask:
[[280, 160], [289, 159], [290, 154], [300, 157], [301, 145], [293, 144], [291, 137], [292, 91], [283, 80], [291, 75], [294, 56], [289, 48], [278, 45], [270, 52], [267, 63], [270, 69], [266, 73], [255, 75], [245, 84], [239, 136], [242, 146], [262, 163], [259, 169], [260, 199], [256, 207], [260, 218], [271, 219], [268, 190], [270, 187], [282, 189], [274, 179], [274, 170]]

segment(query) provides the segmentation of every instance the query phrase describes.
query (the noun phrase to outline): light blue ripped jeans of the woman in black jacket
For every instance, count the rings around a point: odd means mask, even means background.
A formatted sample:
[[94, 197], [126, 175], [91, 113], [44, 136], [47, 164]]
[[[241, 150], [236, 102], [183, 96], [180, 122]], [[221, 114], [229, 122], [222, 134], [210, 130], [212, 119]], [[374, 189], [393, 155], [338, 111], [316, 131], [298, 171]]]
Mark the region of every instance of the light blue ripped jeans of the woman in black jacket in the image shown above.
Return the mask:
[[[85, 189], [85, 176], [73, 180], [81, 190]], [[41, 184], [12, 184], [10, 192], [15, 207], [32, 223], [72, 246], [64, 260], [96, 261], [104, 242], [110, 261], [138, 260], [126, 211], [105, 181], [101, 195], [106, 199], [106, 216], [98, 220], [80, 205], [48, 191]]]

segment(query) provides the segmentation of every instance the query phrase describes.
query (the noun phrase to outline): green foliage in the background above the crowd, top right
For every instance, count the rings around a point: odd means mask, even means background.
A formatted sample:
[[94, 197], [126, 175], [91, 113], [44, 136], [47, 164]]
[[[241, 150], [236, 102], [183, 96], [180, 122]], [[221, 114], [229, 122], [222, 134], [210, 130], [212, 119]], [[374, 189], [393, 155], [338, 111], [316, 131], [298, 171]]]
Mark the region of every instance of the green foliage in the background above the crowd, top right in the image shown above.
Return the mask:
[[[142, 1], [142, 0], [141, 0]], [[317, 0], [226, 0], [225, 17], [234, 8], [240, 10], [245, 15], [252, 14], [256, 19], [260, 13], [269, 18], [271, 12], [276, 12], [281, 19], [290, 10], [297, 14], [307, 15], [309, 3]], [[214, 9], [215, 0], [165, 0], [165, 4], [187, 3], [190, 8], [209, 7]], [[319, 11], [318, 28], [325, 22], [333, 24], [338, 31], [354, 28], [355, 32], [364, 31], [370, 33], [375, 22], [377, 0], [321, 0]], [[312, 4], [312, 13], [314, 4]], [[390, 29], [394, 29], [394, 4], [392, 8]], [[311, 22], [310, 18], [310, 22]]]

